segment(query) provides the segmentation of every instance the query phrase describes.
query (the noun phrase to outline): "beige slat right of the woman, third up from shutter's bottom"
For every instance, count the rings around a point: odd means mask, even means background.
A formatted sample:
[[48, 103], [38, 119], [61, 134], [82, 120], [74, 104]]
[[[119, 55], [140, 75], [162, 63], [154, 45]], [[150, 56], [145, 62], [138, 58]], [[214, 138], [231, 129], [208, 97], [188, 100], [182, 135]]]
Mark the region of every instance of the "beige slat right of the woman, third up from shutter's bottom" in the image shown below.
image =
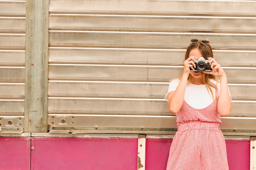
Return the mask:
[[256, 100], [256, 84], [229, 84], [233, 100]]

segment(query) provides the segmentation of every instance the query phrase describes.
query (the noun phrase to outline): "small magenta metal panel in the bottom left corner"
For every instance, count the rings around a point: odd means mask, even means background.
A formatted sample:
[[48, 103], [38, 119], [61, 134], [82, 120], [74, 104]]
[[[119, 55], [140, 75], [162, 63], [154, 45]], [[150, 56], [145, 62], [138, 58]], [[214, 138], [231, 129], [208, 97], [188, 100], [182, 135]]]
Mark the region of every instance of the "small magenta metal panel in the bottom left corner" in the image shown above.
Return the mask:
[[30, 137], [0, 137], [0, 170], [30, 170]]

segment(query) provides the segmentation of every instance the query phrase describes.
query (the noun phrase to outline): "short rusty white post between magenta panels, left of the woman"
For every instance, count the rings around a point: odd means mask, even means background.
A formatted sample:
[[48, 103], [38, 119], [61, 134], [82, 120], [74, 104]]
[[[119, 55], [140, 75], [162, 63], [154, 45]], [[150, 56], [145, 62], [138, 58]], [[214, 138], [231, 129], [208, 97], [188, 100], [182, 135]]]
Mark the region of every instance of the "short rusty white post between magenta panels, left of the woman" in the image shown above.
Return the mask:
[[145, 170], [146, 163], [146, 135], [138, 138], [138, 170]]

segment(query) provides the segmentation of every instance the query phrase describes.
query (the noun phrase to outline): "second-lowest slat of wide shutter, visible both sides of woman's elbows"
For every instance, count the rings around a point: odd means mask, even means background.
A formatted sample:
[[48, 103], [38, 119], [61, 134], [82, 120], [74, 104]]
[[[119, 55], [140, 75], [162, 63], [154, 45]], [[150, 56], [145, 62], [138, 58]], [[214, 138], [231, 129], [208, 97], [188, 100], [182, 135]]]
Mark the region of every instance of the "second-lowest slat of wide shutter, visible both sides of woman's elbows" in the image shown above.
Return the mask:
[[[173, 115], [164, 99], [49, 97], [48, 113]], [[256, 101], [232, 101], [230, 116], [256, 117]]]

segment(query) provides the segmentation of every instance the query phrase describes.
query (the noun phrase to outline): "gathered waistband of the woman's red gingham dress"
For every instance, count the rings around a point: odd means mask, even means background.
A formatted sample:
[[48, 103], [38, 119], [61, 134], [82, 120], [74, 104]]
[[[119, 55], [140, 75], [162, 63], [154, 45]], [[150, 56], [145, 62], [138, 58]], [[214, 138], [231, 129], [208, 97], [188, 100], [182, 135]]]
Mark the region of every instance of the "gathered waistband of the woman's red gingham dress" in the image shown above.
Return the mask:
[[220, 130], [219, 122], [189, 121], [177, 124], [177, 130], [208, 129]]

